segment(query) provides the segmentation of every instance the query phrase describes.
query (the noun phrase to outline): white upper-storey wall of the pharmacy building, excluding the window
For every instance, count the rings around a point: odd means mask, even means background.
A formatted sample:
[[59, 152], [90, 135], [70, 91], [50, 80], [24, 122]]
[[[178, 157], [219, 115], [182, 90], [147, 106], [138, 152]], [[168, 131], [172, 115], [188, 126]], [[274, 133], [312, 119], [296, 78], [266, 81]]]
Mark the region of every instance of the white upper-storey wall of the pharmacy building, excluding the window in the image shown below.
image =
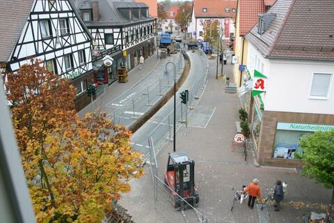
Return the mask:
[[[268, 77], [267, 92], [260, 94], [264, 110], [334, 114], [334, 62], [265, 59], [253, 45], [248, 45], [247, 68]], [[310, 98], [313, 73], [331, 73], [327, 100]]]

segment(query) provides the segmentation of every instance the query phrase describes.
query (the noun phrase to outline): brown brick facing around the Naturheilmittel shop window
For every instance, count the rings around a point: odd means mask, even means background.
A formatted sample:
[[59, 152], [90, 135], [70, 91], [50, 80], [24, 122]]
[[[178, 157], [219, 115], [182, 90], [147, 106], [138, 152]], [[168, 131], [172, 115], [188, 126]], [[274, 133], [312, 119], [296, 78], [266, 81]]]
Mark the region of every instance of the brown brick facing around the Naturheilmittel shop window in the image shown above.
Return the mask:
[[319, 125], [334, 125], [334, 114], [307, 114], [297, 112], [262, 113], [260, 141], [257, 150], [257, 162], [260, 164], [279, 167], [301, 167], [301, 160], [273, 158], [273, 146], [278, 122], [314, 123]]

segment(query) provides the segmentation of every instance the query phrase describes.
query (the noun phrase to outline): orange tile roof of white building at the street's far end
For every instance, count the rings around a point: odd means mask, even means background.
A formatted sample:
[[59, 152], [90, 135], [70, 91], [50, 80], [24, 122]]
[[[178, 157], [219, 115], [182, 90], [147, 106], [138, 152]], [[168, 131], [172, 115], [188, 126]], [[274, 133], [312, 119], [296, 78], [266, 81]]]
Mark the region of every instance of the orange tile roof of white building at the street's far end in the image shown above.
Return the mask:
[[[193, 8], [195, 17], [234, 17], [236, 13], [232, 12], [232, 8], [237, 9], [237, 0], [193, 0]], [[203, 12], [203, 8], [207, 12]], [[225, 8], [229, 8], [230, 12], [226, 13]]]

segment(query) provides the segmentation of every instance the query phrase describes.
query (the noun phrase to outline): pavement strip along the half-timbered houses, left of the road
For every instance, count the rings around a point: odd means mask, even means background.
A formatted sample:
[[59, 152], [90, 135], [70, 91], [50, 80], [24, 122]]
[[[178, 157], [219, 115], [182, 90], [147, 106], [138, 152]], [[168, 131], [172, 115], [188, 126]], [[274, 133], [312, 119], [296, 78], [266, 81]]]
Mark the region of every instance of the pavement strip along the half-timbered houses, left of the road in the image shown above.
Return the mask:
[[[104, 87], [106, 89], [106, 93], [104, 95], [101, 95], [94, 101], [95, 107], [103, 106], [106, 103], [116, 99], [123, 92], [132, 89], [132, 87], [140, 82], [141, 79], [143, 79], [146, 75], [152, 72], [152, 70], [154, 70], [154, 68], [158, 66], [159, 63], [162, 62], [160, 61], [160, 59], [157, 58], [157, 52], [154, 52], [152, 56], [145, 60], [145, 63], [143, 64], [143, 68], [141, 70], [139, 69], [139, 66], [136, 66], [129, 71], [128, 81], [126, 83], [119, 83], [116, 81], [110, 86], [107, 86], [105, 84]], [[78, 112], [78, 115], [80, 118], [82, 118], [88, 112], [92, 112], [91, 104], [87, 105], [86, 107], [84, 107], [84, 109]]]

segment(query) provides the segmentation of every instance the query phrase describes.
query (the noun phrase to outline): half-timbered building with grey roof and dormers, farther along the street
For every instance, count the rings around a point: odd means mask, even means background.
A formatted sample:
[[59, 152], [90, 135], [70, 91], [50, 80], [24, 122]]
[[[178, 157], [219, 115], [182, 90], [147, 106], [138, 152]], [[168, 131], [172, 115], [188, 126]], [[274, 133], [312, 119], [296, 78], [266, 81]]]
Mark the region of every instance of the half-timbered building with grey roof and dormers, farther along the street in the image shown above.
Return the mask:
[[[113, 55], [113, 66], [127, 66], [131, 70], [154, 52], [155, 20], [145, 3], [134, 0], [77, 0], [77, 9], [94, 38], [97, 51], [120, 45], [122, 54]], [[100, 82], [113, 82], [113, 68], [101, 68]], [[102, 78], [104, 72], [104, 79]]]

